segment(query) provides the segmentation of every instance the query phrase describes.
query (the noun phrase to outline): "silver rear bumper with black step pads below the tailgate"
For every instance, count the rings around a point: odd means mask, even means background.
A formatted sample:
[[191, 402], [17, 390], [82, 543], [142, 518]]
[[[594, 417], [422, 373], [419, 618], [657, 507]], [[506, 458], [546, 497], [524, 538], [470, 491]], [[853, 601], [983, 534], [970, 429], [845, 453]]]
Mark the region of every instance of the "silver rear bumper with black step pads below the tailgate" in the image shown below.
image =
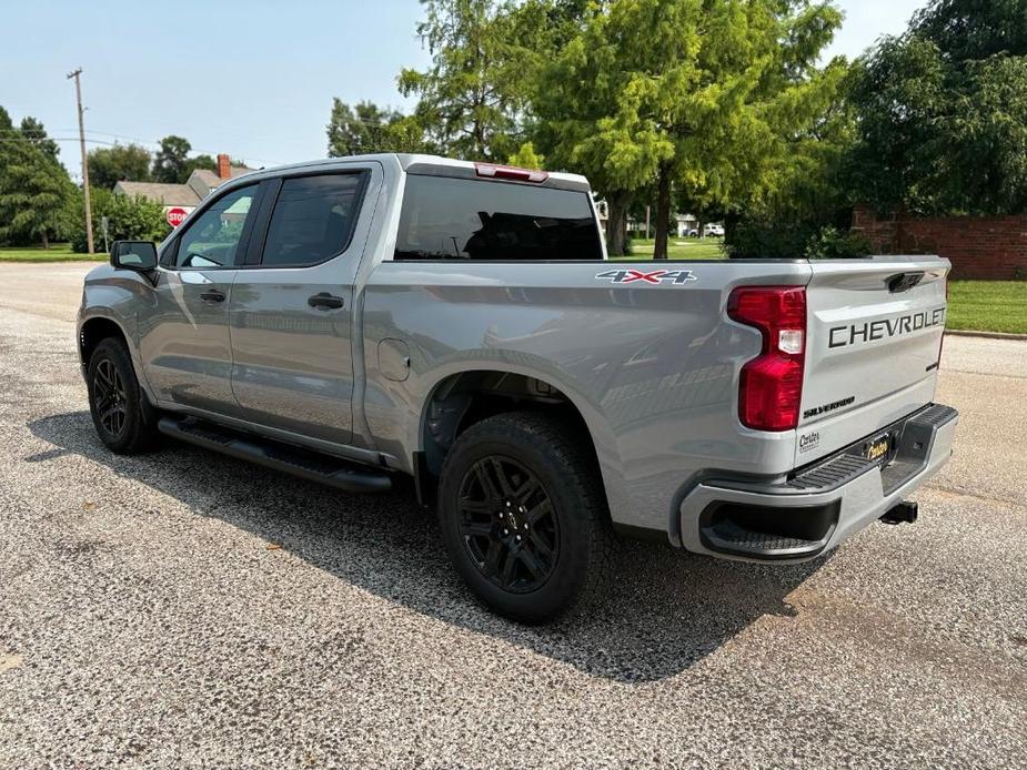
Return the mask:
[[706, 479], [681, 504], [682, 545], [743, 560], [819, 556], [934, 475], [952, 455], [957, 422], [954, 408], [932, 404], [878, 432], [897, 447], [887, 465], [863, 458], [863, 439], [776, 483]]

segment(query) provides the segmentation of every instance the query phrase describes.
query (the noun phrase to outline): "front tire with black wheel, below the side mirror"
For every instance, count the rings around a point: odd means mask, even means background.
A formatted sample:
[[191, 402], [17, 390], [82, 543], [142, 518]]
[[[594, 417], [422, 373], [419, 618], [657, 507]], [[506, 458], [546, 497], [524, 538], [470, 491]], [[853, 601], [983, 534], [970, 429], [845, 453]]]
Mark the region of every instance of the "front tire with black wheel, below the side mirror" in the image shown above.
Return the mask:
[[157, 411], [139, 387], [124, 343], [108, 337], [89, 358], [89, 412], [100, 440], [117, 455], [137, 455], [157, 445]]

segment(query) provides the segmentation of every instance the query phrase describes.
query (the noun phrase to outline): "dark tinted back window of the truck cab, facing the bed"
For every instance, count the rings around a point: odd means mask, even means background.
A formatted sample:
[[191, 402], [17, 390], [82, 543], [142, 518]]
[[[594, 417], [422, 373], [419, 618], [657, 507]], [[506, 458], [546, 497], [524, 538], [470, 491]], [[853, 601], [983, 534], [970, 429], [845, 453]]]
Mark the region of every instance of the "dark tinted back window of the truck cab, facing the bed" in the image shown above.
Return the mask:
[[602, 260], [588, 193], [406, 178], [396, 260]]

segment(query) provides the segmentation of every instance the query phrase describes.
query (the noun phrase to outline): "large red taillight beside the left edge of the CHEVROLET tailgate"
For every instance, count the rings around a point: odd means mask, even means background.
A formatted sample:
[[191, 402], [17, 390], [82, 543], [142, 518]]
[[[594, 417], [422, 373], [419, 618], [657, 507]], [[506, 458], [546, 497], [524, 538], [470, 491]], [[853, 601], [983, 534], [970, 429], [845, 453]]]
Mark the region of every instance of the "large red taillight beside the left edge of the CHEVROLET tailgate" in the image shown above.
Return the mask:
[[727, 315], [763, 333], [763, 351], [742, 367], [738, 417], [756, 430], [798, 425], [806, 359], [806, 290], [742, 286], [731, 293]]

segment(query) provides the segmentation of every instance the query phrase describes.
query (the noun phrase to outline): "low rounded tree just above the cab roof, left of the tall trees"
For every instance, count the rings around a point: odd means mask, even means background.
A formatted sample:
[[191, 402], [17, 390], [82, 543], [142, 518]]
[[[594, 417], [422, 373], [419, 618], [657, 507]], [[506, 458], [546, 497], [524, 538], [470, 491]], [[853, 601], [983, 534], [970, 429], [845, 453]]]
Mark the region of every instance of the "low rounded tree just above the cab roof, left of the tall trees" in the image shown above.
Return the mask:
[[332, 100], [328, 124], [329, 158], [423, 151], [423, 130], [415, 119], [369, 101], [351, 108], [338, 97]]

